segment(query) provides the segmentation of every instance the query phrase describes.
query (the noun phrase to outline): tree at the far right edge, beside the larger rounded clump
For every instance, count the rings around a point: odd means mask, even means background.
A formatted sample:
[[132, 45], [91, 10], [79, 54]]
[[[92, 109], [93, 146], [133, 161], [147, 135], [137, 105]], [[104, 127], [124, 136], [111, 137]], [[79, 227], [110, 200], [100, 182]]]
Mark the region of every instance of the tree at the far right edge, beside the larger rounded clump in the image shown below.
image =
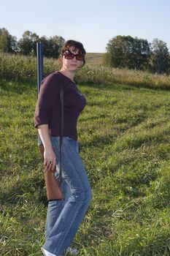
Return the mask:
[[152, 41], [151, 70], [152, 72], [168, 72], [170, 67], [169, 49], [166, 42], [157, 38]]

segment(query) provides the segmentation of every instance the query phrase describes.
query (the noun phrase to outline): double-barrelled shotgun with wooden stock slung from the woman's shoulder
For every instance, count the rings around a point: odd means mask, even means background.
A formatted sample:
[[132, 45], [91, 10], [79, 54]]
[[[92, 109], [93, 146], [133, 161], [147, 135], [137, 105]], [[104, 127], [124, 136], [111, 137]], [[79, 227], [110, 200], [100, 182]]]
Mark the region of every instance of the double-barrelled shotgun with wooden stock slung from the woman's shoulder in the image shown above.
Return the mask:
[[[37, 75], [37, 97], [39, 94], [39, 89], [41, 86], [41, 82], [43, 79], [43, 45], [42, 42], [37, 42], [36, 43], [36, 75]], [[60, 86], [60, 95], [63, 94], [63, 91], [61, 91], [61, 86]], [[63, 96], [63, 95], [62, 95]], [[61, 105], [63, 105], [63, 99], [61, 100]], [[63, 108], [62, 108], [63, 111]], [[62, 138], [61, 138], [62, 139]], [[38, 146], [39, 146], [39, 152], [42, 157], [42, 160], [44, 162], [44, 152], [45, 148], [42, 144], [42, 140], [39, 137], [38, 134]], [[61, 147], [60, 147], [60, 155], [61, 155]], [[63, 194], [61, 192], [61, 183], [58, 182], [55, 178], [55, 170], [44, 170], [44, 175], [45, 175], [45, 184], [46, 184], [46, 189], [47, 189], [47, 200], [63, 200]], [[61, 177], [61, 166], [60, 166], [60, 179]]]

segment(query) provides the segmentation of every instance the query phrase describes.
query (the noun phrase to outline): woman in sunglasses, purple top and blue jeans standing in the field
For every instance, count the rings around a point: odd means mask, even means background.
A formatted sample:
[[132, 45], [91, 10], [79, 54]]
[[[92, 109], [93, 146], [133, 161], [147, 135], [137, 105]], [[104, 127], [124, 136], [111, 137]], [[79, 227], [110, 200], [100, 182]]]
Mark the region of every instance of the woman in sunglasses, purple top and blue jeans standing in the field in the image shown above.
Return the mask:
[[42, 81], [35, 110], [35, 127], [45, 148], [44, 165], [55, 170], [59, 159], [60, 111], [59, 80], [63, 83], [63, 152], [61, 190], [64, 200], [48, 203], [45, 226], [46, 256], [63, 255], [69, 248], [85, 216], [91, 189], [85, 167], [78, 154], [77, 119], [85, 108], [85, 97], [74, 83], [77, 69], [85, 64], [85, 49], [80, 42], [69, 40], [61, 48], [61, 70]]

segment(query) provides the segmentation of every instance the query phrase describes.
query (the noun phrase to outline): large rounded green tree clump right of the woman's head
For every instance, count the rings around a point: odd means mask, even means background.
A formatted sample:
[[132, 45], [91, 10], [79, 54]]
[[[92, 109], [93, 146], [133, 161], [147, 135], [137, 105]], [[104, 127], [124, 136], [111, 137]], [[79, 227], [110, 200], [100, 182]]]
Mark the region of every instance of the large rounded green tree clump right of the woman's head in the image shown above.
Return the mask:
[[105, 63], [112, 67], [146, 69], [150, 59], [150, 44], [146, 39], [117, 36], [109, 40]]

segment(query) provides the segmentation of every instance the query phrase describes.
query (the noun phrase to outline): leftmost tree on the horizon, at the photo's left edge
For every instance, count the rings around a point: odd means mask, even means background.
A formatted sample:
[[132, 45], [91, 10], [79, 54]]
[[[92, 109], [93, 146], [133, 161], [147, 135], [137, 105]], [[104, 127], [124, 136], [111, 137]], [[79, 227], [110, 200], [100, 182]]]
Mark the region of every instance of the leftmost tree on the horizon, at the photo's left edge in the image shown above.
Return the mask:
[[2, 53], [17, 53], [18, 42], [16, 37], [12, 37], [7, 29], [0, 29], [0, 51]]

